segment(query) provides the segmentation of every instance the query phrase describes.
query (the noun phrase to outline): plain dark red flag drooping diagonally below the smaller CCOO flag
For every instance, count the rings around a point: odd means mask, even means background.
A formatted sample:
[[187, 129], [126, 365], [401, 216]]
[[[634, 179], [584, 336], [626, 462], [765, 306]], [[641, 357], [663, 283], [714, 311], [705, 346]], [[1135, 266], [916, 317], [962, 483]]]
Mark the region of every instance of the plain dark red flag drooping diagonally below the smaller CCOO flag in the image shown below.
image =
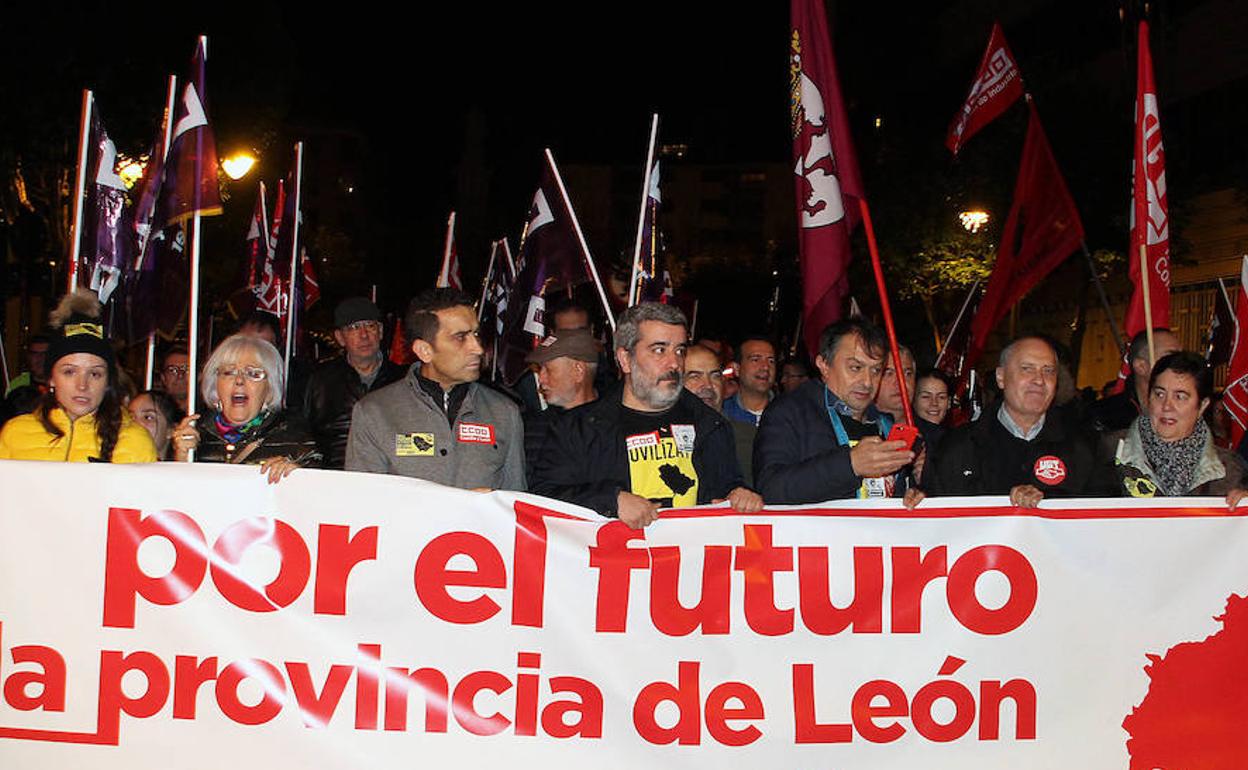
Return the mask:
[[975, 366], [992, 327], [1083, 241], [1083, 222], [1053, 160], [1036, 107], [1028, 102], [1027, 139], [1022, 145], [1013, 203], [1001, 233], [983, 301], [971, 323], [966, 366]]

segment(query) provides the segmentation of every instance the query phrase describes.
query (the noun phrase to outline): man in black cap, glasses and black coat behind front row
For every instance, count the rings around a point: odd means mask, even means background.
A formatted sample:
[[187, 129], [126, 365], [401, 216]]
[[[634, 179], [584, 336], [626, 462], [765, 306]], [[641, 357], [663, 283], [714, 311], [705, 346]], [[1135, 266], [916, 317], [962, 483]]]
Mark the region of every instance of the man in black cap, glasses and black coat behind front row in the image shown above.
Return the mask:
[[403, 367], [382, 356], [381, 318], [377, 306], [363, 297], [348, 297], [333, 311], [333, 338], [342, 354], [317, 364], [303, 397], [303, 412], [326, 468], [342, 469], [346, 462], [356, 402], [403, 377]]

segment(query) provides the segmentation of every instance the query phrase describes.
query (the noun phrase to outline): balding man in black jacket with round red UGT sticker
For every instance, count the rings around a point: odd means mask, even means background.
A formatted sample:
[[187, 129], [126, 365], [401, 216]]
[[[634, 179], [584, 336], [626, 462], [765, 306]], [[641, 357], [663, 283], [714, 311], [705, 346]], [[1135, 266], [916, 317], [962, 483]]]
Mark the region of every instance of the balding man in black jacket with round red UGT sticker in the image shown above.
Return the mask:
[[1090, 436], [1050, 407], [1057, 391], [1057, 353], [1042, 337], [1021, 337], [1001, 351], [1002, 403], [955, 428], [929, 459], [930, 494], [1008, 494], [1035, 508], [1046, 497], [1114, 494], [1114, 473]]

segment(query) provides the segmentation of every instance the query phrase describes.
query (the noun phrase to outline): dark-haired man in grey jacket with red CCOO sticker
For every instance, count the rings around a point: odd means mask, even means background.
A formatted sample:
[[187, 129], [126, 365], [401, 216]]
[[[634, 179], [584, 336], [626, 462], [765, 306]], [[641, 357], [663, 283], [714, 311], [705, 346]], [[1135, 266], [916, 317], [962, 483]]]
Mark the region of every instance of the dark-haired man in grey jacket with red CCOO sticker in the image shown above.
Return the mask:
[[477, 382], [482, 347], [472, 300], [453, 288], [429, 290], [403, 321], [418, 361], [403, 379], [356, 403], [347, 470], [523, 492], [520, 411]]

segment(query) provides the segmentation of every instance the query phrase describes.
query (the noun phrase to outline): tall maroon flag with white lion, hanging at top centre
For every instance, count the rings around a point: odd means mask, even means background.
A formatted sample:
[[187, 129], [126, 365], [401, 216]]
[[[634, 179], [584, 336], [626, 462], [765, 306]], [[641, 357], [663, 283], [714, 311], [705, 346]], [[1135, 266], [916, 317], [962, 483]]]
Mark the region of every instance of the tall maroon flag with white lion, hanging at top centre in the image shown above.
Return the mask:
[[797, 240], [801, 253], [801, 316], [814, 356], [824, 327], [841, 317], [849, 293], [850, 233], [865, 197], [849, 119], [836, 77], [822, 0], [791, 0], [789, 99]]

